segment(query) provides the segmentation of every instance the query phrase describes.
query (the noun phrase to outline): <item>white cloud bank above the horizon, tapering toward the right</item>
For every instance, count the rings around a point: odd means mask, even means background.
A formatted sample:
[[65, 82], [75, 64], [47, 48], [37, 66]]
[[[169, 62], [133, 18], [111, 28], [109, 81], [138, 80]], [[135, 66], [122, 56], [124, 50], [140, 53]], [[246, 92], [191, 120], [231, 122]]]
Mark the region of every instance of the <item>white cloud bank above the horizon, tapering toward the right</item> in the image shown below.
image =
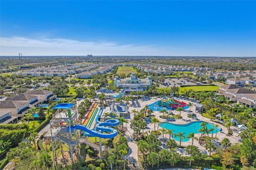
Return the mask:
[[[162, 52], [161, 52], [162, 51]], [[119, 45], [72, 39], [1, 38], [0, 55], [167, 55], [166, 49], [148, 45]]]

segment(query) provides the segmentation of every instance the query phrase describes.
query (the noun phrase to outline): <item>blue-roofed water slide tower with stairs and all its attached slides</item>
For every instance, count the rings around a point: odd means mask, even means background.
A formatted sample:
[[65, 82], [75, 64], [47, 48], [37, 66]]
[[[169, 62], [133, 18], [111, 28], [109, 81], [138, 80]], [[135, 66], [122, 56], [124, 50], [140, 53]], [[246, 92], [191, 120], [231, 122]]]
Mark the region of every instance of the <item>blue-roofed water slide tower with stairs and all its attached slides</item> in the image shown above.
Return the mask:
[[[44, 134], [45, 138], [52, 141], [53, 166], [75, 162], [82, 143], [98, 150], [102, 158], [101, 138], [114, 138], [118, 133], [111, 126], [118, 125], [119, 121], [111, 119], [100, 122], [103, 108], [97, 106], [97, 103], [92, 105], [84, 120], [78, 119], [77, 107], [74, 104], [58, 104], [53, 107], [57, 111], [52, 115], [50, 130]], [[94, 129], [91, 129], [93, 123]], [[99, 146], [88, 141], [87, 137], [98, 137]]]

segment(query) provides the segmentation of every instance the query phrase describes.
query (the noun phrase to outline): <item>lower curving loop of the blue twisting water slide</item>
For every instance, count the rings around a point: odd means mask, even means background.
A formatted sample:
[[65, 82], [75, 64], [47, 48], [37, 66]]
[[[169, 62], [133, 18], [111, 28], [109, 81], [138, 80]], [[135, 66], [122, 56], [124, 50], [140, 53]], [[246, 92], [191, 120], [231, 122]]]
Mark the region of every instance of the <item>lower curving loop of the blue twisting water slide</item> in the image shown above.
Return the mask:
[[[117, 135], [117, 130], [113, 128], [97, 126], [96, 130], [86, 128], [84, 125], [76, 125], [76, 129], [85, 131], [88, 137], [99, 137], [103, 139], [114, 138]], [[101, 132], [99, 132], [101, 131]], [[103, 132], [110, 132], [110, 133], [103, 133]]]

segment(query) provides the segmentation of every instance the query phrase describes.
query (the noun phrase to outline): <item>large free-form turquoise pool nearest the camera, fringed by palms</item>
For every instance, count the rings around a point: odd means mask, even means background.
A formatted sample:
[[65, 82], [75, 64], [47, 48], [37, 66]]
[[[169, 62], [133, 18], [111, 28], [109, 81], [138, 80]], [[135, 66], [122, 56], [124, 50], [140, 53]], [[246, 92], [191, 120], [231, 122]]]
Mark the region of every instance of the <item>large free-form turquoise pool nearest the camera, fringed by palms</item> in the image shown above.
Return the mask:
[[[200, 133], [200, 132], [198, 132], [198, 130], [202, 128], [200, 126], [202, 122], [203, 121], [197, 121], [197, 122], [191, 122], [188, 124], [173, 124], [173, 123], [162, 122], [159, 124], [159, 126], [164, 129], [174, 130], [173, 133], [185, 132], [185, 134], [184, 134], [185, 139], [183, 139], [182, 142], [187, 142], [190, 140], [187, 138], [189, 133]], [[207, 126], [208, 130], [210, 128], [214, 129], [214, 131], [210, 132], [210, 134], [216, 133], [216, 128], [214, 127], [214, 124], [206, 122], [206, 126]], [[220, 132], [219, 128], [217, 128], [217, 132]], [[172, 135], [172, 138], [175, 141], [180, 141], [180, 138], [179, 137], [174, 138], [174, 135]]]

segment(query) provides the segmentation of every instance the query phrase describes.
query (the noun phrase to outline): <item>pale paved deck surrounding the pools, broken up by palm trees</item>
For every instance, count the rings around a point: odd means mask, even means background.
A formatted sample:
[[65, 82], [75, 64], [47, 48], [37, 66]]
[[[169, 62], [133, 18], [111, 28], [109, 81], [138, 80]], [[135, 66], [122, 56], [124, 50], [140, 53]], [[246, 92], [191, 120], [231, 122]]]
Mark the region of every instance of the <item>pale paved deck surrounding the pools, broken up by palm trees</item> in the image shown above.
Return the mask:
[[[127, 129], [128, 129], [128, 131], [129, 131], [129, 133], [133, 133], [133, 130], [130, 128], [130, 122], [131, 122], [131, 120], [132, 120], [132, 118], [133, 118], [133, 114], [132, 114], [131, 111], [132, 111], [133, 109], [135, 109], [136, 111], [137, 111], [137, 110], [140, 111], [140, 109], [142, 109], [142, 108], [145, 107], [146, 105], [149, 105], [149, 104], [151, 104], [151, 103], [154, 103], [155, 101], [158, 101], [158, 100], [160, 100], [160, 99], [161, 99], [161, 98], [156, 98], [156, 97], [151, 97], [150, 99], [147, 99], [147, 100], [145, 100], [145, 99], [139, 99], [139, 100], [135, 100], [135, 101], [134, 101], [135, 105], [133, 104], [133, 105], [129, 106], [130, 118], [129, 118], [129, 124], [127, 125]], [[224, 138], [228, 138], [231, 143], [237, 143], [237, 142], [239, 142], [239, 141], [238, 141], [238, 133], [237, 133], [237, 132], [234, 132], [234, 131], [233, 131], [234, 134], [233, 134], [232, 136], [228, 137], [228, 136], [226, 135], [226, 133], [228, 132], [228, 130], [227, 130], [227, 128], [226, 128], [225, 126], [223, 126], [223, 125], [221, 125], [221, 124], [219, 124], [219, 123], [213, 122], [213, 121], [211, 121], [209, 118], [203, 117], [201, 114], [196, 113], [196, 112], [195, 112], [195, 105], [196, 105], [196, 103], [194, 103], [194, 102], [192, 102], [192, 101], [184, 100], [184, 99], [180, 99], [180, 101], [184, 101], [184, 102], [187, 103], [187, 104], [188, 104], [189, 102], [193, 103], [193, 106], [191, 107], [191, 113], [195, 113], [196, 116], [197, 116], [197, 118], [198, 118], [199, 120], [193, 120], [192, 118], [189, 118], [189, 117], [187, 116], [188, 112], [185, 112], [185, 111], [181, 111], [181, 116], [182, 116], [182, 118], [176, 120], [175, 122], [166, 121], [166, 119], [159, 117], [159, 116], [161, 115], [161, 113], [159, 113], [159, 112], [154, 112], [153, 114], [155, 115], [155, 117], [156, 117], [160, 122], [169, 122], [169, 123], [173, 123], [173, 124], [187, 124], [187, 123], [189, 123], [189, 122], [204, 121], [204, 122], [209, 122], [209, 123], [212, 123], [212, 124], [218, 124], [218, 125], [219, 125], [218, 128], [221, 128], [221, 129], [222, 129], [222, 132], [217, 133], [217, 138], [219, 138], [219, 141], [221, 141], [221, 140], [224, 139]], [[131, 104], [131, 101], [129, 101], [129, 103]], [[189, 109], [186, 109], [186, 111], [189, 111]], [[172, 112], [173, 112], [173, 114], [179, 114], [179, 112], [177, 112], [177, 111], [172, 111]], [[188, 120], [190, 120], [190, 121], [188, 122]], [[148, 129], [146, 129], [145, 132], [149, 132], [149, 131], [154, 130], [154, 125], [153, 125], [153, 124], [150, 123], [150, 124], [147, 124], [147, 125], [148, 125]], [[156, 128], [157, 128], [157, 126], [156, 126]], [[159, 129], [162, 129], [162, 128], [159, 126]], [[234, 129], [234, 127], [231, 127], [231, 129]], [[150, 133], [149, 133], [149, 134], [150, 134]], [[196, 134], [195, 134], [195, 137], [199, 138], [200, 135], [201, 135], [201, 133], [196, 133]], [[209, 135], [211, 136], [211, 134], [209, 134]], [[162, 135], [160, 135], [160, 137], [162, 137]], [[213, 137], [215, 137], [215, 134], [213, 134]], [[168, 134], [166, 135], [166, 138], [169, 139], [169, 135], [168, 135]], [[176, 142], [179, 144], [178, 141], [176, 141]], [[190, 139], [190, 140], [187, 141], [187, 142], [182, 142], [182, 143], [181, 143], [182, 146], [188, 146], [188, 145], [191, 145], [191, 144], [192, 144], [192, 139]], [[199, 148], [199, 150], [201, 150], [202, 153], [204, 153], [204, 154], [209, 154], [209, 153], [205, 150], [204, 146], [199, 145], [199, 143], [198, 143], [196, 140], [194, 141], [194, 145], [197, 146], [197, 147]], [[134, 149], [135, 149], [135, 148], [134, 148]], [[185, 152], [185, 149], [178, 148], [176, 151], [179, 152], [181, 155], [187, 155], [186, 152]], [[137, 151], [137, 152], [138, 152], [138, 151]], [[137, 157], [138, 157], [138, 156], [137, 156]]]

